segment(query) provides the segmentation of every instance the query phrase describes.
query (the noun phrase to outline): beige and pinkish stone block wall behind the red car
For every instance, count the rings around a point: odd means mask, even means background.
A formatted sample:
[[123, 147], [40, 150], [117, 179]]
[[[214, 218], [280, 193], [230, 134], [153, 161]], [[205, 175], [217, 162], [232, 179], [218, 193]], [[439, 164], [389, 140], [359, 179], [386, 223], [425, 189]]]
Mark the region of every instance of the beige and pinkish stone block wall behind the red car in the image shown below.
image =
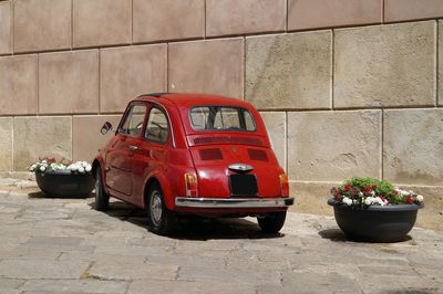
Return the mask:
[[260, 109], [298, 211], [331, 185], [383, 178], [443, 223], [443, 1], [0, 0], [0, 170], [91, 160], [150, 92]]

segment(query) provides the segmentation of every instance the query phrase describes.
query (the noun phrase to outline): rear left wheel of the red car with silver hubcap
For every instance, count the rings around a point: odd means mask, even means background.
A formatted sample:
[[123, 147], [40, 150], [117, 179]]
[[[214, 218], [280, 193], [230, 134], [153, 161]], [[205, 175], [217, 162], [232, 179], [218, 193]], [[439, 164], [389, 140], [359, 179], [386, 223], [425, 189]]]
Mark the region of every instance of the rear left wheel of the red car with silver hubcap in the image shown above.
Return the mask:
[[176, 227], [176, 214], [167, 209], [162, 189], [152, 185], [147, 191], [147, 216], [150, 231], [165, 235], [174, 231]]

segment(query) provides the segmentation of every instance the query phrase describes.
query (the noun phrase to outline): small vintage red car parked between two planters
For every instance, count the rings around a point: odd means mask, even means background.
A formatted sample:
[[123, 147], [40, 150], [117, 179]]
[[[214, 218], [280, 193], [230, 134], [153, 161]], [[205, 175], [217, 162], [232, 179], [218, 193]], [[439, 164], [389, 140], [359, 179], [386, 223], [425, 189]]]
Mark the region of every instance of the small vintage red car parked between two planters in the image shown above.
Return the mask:
[[[102, 134], [112, 129], [105, 123]], [[95, 206], [110, 196], [147, 211], [165, 234], [181, 216], [257, 217], [278, 232], [293, 204], [258, 112], [239, 99], [147, 94], [130, 102], [93, 161]]]

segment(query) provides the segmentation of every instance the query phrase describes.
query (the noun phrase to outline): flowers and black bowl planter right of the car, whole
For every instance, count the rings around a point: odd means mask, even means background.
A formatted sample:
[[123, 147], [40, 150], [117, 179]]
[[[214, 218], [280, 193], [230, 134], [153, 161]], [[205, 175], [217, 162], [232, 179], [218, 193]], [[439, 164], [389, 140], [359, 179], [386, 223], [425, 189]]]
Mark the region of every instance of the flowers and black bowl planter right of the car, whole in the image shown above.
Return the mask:
[[331, 189], [340, 229], [356, 241], [396, 242], [413, 228], [423, 196], [393, 187], [390, 182], [354, 177]]

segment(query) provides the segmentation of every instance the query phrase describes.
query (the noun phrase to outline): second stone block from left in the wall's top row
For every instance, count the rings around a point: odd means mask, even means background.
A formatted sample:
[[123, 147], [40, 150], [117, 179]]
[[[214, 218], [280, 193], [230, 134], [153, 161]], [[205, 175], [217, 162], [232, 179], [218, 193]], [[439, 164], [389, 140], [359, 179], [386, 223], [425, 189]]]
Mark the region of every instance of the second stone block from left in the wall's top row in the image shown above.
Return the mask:
[[71, 48], [71, 0], [16, 0], [14, 52]]

